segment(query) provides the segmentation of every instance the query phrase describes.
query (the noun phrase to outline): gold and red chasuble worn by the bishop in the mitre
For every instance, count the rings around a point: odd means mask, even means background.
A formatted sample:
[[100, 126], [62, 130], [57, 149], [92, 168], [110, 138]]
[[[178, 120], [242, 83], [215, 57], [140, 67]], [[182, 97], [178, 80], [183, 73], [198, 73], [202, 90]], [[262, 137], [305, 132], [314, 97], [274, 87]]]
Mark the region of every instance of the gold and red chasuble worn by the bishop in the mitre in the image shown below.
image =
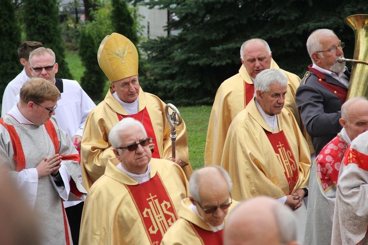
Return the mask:
[[[108, 134], [112, 127], [125, 117], [133, 117], [144, 125], [148, 137], [153, 137], [155, 149], [154, 158], [168, 159], [171, 157], [170, 125], [166, 119], [165, 103], [157, 96], [139, 89], [138, 113], [128, 115], [128, 112], [111, 94], [107, 92], [104, 101], [93, 109], [85, 122], [81, 143], [81, 169], [83, 187], [88, 191], [91, 185], [105, 172], [107, 160], [114, 158]], [[176, 156], [189, 163], [188, 141], [185, 123], [176, 127]], [[183, 167], [186, 178], [193, 169], [189, 163]]]

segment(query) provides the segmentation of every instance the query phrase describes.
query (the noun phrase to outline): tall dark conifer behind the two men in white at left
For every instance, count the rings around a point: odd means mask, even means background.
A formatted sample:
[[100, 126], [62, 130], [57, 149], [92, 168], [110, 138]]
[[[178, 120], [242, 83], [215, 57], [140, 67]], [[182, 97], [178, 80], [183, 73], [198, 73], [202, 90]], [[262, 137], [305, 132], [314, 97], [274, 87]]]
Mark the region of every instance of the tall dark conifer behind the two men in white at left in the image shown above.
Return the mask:
[[56, 0], [23, 0], [23, 3], [27, 40], [41, 42], [44, 47], [53, 50], [59, 64], [56, 77], [73, 79], [65, 61]]

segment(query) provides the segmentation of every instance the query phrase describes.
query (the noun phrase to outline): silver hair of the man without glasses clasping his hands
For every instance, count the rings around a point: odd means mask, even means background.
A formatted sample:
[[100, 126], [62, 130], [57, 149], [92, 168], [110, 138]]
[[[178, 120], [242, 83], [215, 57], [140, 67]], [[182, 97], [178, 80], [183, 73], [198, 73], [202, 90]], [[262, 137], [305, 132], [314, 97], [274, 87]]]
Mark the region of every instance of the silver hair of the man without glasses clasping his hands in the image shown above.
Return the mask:
[[261, 93], [268, 92], [270, 85], [275, 82], [279, 83], [280, 86], [288, 86], [288, 78], [282, 71], [276, 69], [263, 70], [254, 81], [254, 96], [257, 96], [257, 90], [260, 90]]

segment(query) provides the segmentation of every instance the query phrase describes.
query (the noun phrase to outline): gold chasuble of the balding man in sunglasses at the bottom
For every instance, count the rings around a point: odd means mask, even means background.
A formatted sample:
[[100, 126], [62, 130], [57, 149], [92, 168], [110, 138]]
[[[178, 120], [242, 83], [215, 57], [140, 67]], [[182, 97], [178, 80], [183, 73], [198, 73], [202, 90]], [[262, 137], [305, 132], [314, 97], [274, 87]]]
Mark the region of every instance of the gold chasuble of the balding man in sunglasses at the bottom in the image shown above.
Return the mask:
[[[229, 212], [238, 203], [233, 200]], [[213, 232], [210, 226], [189, 208], [190, 204], [189, 198], [182, 200], [180, 218], [165, 233], [161, 245], [222, 245], [223, 230]]]

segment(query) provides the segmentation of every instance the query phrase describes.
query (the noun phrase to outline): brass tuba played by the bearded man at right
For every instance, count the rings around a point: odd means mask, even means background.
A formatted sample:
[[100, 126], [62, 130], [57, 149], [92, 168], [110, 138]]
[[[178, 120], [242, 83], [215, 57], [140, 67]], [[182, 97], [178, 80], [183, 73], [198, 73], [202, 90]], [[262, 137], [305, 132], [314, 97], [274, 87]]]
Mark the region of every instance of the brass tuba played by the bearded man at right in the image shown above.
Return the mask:
[[350, 15], [346, 17], [345, 24], [351, 27], [355, 34], [354, 59], [339, 59], [340, 62], [353, 62], [346, 99], [368, 97], [368, 15]]

